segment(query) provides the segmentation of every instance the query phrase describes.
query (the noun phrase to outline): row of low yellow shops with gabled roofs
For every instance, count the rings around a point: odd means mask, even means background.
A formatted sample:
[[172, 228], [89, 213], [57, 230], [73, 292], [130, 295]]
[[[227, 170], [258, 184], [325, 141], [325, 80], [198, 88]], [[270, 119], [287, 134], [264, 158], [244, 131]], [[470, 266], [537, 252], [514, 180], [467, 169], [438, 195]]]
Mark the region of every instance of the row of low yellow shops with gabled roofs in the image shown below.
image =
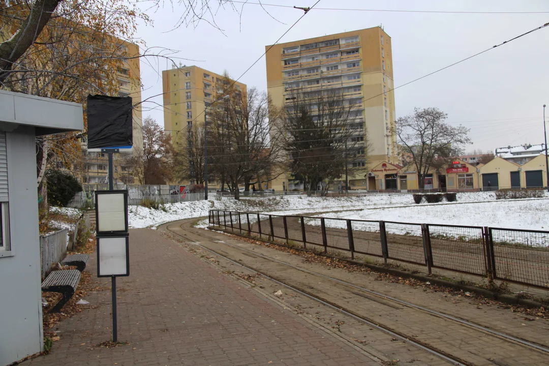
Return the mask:
[[[423, 177], [423, 189], [456, 192], [468, 190], [497, 190], [547, 187], [545, 155], [520, 166], [501, 157], [485, 165], [473, 166], [455, 159], [448, 164], [430, 168]], [[408, 190], [419, 189], [419, 174], [416, 166], [400, 166], [380, 162], [365, 176], [365, 179], [350, 179], [350, 189]]]

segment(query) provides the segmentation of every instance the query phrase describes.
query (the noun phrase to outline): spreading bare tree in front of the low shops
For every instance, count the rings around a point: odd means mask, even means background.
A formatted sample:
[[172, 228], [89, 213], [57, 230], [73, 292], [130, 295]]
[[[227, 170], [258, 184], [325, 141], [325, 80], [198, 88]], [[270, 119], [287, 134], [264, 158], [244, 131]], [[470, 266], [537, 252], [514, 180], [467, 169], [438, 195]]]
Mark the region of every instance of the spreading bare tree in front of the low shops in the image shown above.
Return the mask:
[[412, 115], [395, 122], [392, 132], [398, 139], [399, 154], [408, 156], [416, 166], [420, 189], [430, 168], [460, 155], [463, 145], [471, 143], [469, 129], [450, 126], [445, 122], [447, 116], [438, 108], [415, 108]]

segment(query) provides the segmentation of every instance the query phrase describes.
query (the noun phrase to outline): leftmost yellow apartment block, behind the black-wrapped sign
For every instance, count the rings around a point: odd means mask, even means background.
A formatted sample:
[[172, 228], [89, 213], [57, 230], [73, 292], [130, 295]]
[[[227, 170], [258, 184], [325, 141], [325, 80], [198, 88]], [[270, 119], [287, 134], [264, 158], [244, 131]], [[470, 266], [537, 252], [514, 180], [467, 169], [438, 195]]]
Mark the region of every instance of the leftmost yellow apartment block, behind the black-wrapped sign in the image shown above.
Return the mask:
[[[139, 47], [136, 44], [128, 43], [118, 38], [114, 42], [122, 44], [122, 51], [128, 57], [139, 55]], [[133, 151], [143, 149], [143, 118], [141, 108], [141, 71], [139, 69], [139, 58], [132, 58], [124, 61], [124, 65], [118, 70], [117, 78], [120, 85], [117, 97], [132, 97], [133, 108], [133, 148], [121, 149], [120, 154], [114, 154], [114, 182], [125, 184], [137, 184], [139, 182], [131, 174], [127, 165], [127, 158]], [[85, 161], [80, 181], [90, 184], [108, 183], [109, 161], [107, 154], [102, 154], [101, 149], [87, 149], [87, 140], [82, 139], [82, 155]]]

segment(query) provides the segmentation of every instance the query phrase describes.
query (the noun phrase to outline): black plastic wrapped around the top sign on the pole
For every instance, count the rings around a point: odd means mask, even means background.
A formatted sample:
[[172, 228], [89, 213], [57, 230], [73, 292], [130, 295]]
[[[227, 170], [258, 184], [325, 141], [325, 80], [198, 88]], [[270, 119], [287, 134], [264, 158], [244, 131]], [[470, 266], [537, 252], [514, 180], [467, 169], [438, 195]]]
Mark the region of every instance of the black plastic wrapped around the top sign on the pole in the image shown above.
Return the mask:
[[133, 145], [132, 98], [88, 95], [88, 149]]

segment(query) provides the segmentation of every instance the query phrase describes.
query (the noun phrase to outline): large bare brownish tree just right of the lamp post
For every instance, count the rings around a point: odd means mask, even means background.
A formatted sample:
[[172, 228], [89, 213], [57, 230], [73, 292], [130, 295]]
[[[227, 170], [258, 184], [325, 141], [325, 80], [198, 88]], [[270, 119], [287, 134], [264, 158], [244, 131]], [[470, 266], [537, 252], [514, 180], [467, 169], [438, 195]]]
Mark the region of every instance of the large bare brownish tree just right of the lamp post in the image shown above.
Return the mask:
[[220, 100], [210, 114], [208, 166], [227, 180], [234, 198], [239, 199], [239, 184], [247, 192], [250, 185], [280, 174], [281, 121], [266, 93], [256, 88], [239, 91], [225, 78], [221, 95], [231, 98]]

